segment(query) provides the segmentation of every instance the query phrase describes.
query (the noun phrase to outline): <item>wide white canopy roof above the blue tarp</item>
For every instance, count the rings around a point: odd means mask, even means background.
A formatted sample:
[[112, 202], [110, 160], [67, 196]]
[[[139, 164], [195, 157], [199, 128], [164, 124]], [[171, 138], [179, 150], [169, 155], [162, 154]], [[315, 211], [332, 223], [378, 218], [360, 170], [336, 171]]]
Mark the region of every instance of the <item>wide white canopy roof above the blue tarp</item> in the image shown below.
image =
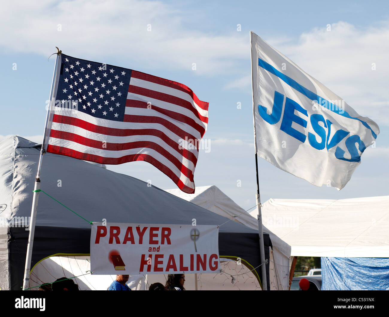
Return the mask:
[[389, 257], [389, 196], [270, 199], [262, 219], [292, 256]]

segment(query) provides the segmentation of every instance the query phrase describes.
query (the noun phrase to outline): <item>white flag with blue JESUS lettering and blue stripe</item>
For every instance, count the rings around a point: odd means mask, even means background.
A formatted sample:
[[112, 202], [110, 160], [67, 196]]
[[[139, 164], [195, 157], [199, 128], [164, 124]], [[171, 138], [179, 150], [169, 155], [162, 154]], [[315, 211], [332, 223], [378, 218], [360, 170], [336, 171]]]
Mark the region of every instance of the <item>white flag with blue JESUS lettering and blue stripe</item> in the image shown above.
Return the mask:
[[256, 153], [316, 186], [342, 189], [378, 125], [258, 35], [250, 38]]

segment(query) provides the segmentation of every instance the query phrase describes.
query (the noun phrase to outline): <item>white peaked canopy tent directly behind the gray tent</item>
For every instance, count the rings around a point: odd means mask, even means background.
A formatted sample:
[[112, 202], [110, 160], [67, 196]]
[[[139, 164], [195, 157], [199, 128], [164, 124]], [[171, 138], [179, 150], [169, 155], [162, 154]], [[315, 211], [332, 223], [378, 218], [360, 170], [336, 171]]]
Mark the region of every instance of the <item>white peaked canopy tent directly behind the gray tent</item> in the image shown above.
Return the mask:
[[[216, 186], [196, 187], [194, 194], [187, 194], [179, 189], [166, 191], [229, 219], [239, 215], [233, 221], [258, 230], [256, 209], [250, 215]], [[287, 290], [291, 247], [268, 228], [264, 227], [263, 231], [270, 235], [273, 244], [273, 250], [270, 250], [270, 289]]]

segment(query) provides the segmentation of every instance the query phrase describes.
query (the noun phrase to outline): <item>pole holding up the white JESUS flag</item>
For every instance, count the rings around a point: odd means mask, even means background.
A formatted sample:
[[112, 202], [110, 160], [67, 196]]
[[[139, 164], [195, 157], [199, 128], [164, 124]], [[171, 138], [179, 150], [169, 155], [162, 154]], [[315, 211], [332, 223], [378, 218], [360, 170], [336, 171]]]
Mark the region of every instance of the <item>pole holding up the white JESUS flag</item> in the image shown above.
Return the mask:
[[[250, 32], [250, 46], [251, 46], [251, 32]], [[251, 63], [252, 63], [252, 49], [250, 49]], [[254, 81], [252, 78], [252, 65], [251, 65], [251, 89], [252, 89], [252, 106], [254, 105]], [[254, 116], [254, 129], [255, 129], [255, 116]], [[256, 140], [254, 139], [254, 144]], [[257, 147], [255, 147], [257, 150]], [[259, 179], [258, 179], [258, 157], [255, 152], [255, 168], [257, 172], [257, 194], [255, 196], [257, 204], [257, 219], [258, 219], [258, 235], [259, 235], [259, 256], [261, 259], [261, 272], [262, 272], [262, 290], [267, 291], [267, 277], [266, 277], [266, 259], [265, 259], [265, 243], [263, 243], [263, 225], [262, 225], [262, 212], [261, 212], [261, 196], [259, 195]]]

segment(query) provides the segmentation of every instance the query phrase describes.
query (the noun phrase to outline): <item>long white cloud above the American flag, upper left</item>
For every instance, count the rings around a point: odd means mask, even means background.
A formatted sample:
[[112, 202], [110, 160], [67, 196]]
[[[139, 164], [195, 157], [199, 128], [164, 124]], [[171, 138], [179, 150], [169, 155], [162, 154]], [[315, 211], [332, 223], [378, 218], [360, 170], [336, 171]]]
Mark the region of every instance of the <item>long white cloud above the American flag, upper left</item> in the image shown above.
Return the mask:
[[[2, 32], [0, 46], [45, 56], [58, 46], [64, 54], [108, 64], [119, 56], [126, 59], [121, 66], [137, 70], [168, 65], [192, 71], [196, 63], [196, 74], [230, 71], [237, 59], [246, 57], [244, 52], [249, 56], [247, 38], [240, 32], [207, 35], [187, 30], [184, 14], [188, 12], [161, 1], [7, 2], [2, 4], [0, 28], [9, 32]], [[102, 56], [107, 61], [101, 61]]]

